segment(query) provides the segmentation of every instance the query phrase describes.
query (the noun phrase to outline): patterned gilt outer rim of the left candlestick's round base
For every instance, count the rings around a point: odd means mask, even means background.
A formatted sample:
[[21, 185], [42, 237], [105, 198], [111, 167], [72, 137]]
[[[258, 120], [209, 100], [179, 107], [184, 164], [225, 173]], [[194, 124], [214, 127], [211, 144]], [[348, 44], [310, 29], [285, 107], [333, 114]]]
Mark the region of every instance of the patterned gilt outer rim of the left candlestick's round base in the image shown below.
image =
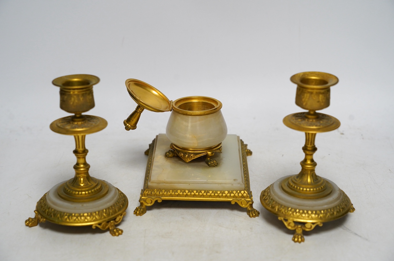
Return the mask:
[[126, 211], [128, 200], [126, 195], [116, 188], [119, 193], [117, 201], [108, 208], [89, 213], [68, 213], [48, 206], [46, 194], [37, 202], [36, 210], [41, 217], [49, 222], [64, 226], [91, 226], [115, 219]]

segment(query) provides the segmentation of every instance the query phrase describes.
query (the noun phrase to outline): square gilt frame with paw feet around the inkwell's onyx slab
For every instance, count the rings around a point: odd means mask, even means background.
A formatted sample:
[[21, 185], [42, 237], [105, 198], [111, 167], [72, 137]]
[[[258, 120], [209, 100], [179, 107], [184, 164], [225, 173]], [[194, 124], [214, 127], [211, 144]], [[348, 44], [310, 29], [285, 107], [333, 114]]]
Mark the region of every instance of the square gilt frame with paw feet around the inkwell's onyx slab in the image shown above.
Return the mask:
[[[241, 140], [242, 168], [245, 190], [182, 190], [182, 189], [151, 189], [148, 188], [151, 175], [154, 140], [149, 144], [147, 169], [145, 172], [144, 187], [139, 198], [140, 205], [134, 210], [134, 214], [141, 216], [146, 213], [147, 206], [152, 206], [156, 201], [162, 200], [186, 200], [186, 201], [229, 201], [246, 208], [249, 217], [258, 217], [260, 212], [253, 208], [253, 196], [250, 191], [249, 170], [246, 159], [247, 144]], [[250, 150], [249, 150], [250, 151]], [[251, 153], [251, 151], [250, 151]], [[145, 151], [147, 154], [147, 151]]]

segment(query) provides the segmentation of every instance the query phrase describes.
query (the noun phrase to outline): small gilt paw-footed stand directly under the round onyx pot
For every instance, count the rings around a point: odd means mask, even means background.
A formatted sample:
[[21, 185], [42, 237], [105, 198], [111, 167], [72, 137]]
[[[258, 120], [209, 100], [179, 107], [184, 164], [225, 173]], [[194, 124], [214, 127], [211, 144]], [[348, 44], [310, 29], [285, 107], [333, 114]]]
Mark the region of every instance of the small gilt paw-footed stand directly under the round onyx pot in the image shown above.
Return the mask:
[[217, 144], [216, 146], [212, 146], [210, 148], [204, 148], [204, 149], [187, 149], [187, 148], [176, 146], [175, 144], [171, 143], [170, 148], [172, 150], [169, 150], [165, 153], [165, 157], [167, 158], [178, 156], [181, 159], [183, 159], [185, 162], [190, 162], [193, 159], [197, 159], [198, 157], [206, 155], [205, 163], [210, 167], [216, 167], [219, 165], [219, 162], [214, 159], [211, 159], [211, 157], [215, 154], [215, 152], [221, 153], [222, 151], [221, 143]]

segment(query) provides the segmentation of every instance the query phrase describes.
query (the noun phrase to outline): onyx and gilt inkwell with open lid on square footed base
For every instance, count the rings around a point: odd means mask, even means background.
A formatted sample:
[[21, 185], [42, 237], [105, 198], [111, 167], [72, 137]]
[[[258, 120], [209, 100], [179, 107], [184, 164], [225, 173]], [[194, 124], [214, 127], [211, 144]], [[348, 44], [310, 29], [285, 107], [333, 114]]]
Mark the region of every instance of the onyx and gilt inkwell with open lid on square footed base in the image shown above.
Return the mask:
[[[246, 160], [252, 152], [240, 137], [227, 135], [219, 100], [191, 96], [171, 101], [136, 79], [126, 80], [126, 88], [138, 104], [123, 122], [126, 130], [136, 128], [145, 109], [171, 111], [165, 134], [158, 134], [145, 151], [145, 181], [134, 214], [145, 214], [156, 201], [184, 200], [237, 203], [250, 217], [259, 215], [253, 208]], [[175, 156], [178, 159], [169, 159]]]

